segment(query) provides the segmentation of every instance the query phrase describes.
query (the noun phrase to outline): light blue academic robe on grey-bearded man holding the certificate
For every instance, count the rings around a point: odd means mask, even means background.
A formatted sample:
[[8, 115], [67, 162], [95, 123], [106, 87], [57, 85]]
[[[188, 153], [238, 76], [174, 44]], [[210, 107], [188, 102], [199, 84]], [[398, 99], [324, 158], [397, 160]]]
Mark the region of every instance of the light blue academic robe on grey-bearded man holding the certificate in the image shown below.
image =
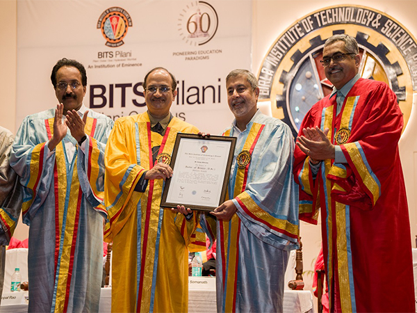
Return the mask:
[[209, 214], [202, 221], [211, 240], [217, 236], [218, 312], [283, 310], [284, 275], [299, 234], [293, 149], [289, 127], [259, 111], [238, 137], [227, 194], [236, 214], [217, 225]]

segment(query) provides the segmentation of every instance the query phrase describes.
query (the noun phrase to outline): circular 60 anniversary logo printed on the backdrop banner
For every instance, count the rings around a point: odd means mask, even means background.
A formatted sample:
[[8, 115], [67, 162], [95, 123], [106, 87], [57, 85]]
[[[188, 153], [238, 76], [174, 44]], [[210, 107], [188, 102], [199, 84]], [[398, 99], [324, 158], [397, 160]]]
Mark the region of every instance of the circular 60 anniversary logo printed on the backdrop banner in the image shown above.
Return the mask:
[[183, 8], [178, 19], [179, 35], [192, 46], [206, 44], [218, 29], [218, 15], [211, 4], [193, 1]]

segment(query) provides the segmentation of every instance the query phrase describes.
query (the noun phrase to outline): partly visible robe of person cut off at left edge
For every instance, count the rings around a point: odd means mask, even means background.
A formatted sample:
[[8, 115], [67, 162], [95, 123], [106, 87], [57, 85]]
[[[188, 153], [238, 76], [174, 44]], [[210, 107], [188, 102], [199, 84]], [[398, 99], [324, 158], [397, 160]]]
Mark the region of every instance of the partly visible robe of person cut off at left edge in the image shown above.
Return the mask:
[[22, 187], [9, 161], [12, 144], [13, 134], [0, 127], [0, 301], [3, 292], [6, 246], [15, 232], [22, 209]]

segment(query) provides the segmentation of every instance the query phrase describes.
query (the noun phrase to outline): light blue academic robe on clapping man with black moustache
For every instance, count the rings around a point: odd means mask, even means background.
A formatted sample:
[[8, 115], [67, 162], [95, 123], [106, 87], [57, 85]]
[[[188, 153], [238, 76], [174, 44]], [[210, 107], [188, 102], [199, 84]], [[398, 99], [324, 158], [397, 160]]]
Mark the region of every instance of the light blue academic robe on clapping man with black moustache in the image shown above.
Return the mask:
[[[88, 112], [85, 151], [70, 129], [49, 152], [55, 109], [27, 116], [10, 164], [24, 186], [29, 312], [97, 312], [103, 262], [104, 148], [113, 120]], [[68, 154], [65, 143], [75, 145]]]

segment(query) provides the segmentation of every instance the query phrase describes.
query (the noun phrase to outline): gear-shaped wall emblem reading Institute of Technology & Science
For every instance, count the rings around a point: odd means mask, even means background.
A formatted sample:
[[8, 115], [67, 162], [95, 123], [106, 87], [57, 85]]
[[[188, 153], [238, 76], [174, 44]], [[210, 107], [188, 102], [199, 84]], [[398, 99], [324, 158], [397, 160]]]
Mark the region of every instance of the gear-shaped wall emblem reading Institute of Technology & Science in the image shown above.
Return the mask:
[[272, 45], [259, 71], [259, 102], [271, 106], [297, 135], [304, 115], [332, 91], [320, 60], [336, 33], [357, 39], [361, 77], [386, 82], [397, 95], [407, 125], [417, 79], [414, 37], [392, 17], [362, 6], [334, 6], [299, 19]]

